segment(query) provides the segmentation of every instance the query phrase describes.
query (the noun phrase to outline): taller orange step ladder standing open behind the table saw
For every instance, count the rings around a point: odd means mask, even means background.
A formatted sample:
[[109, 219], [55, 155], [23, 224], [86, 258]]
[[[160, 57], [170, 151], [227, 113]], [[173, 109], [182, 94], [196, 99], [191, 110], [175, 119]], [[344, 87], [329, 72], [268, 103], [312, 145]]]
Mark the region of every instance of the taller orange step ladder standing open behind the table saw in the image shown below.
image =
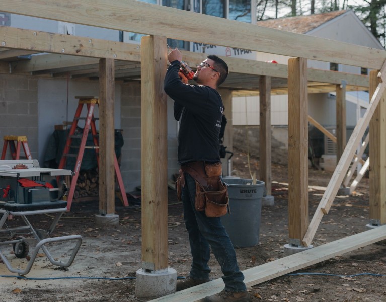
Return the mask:
[[[94, 117], [94, 108], [97, 105], [99, 106], [99, 99], [97, 97], [76, 97], [76, 98], [79, 99], [78, 108], [76, 108], [75, 116], [74, 116], [73, 122], [71, 124], [71, 128], [70, 128], [70, 131], [68, 133], [67, 141], [66, 141], [66, 144], [65, 144], [65, 147], [63, 150], [63, 155], [60, 159], [60, 163], [59, 163], [59, 167], [58, 167], [58, 169], [64, 169], [67, 157], [76, 157], [75, 167], [74, 167], [74, 171], [73, 171], [74, 175], [72, 176], [71, 184], [70, 184], [70, 188], [69, 188], [68, 196], [67, 196], [67, 210], [70, 210], [70, 208], [71, 208], [73, 194], [75, 192], [76, 182], [78, 181], [79, 172], [81, 170], [82, 158], [83, 158], [83, 154], [85, 152], [85, 148], [95, 149], [95, 153], [97, 156], [97, 163], [98, 163], [98, 167], [99, 167], [99, 143], [98, 143], [98, 137], [97, 137], [97, 128], [95, 127], [95, 120], [98, 118]], [[80, 117], [84, 105], [87, 106], [87, 117]], [[85, 127], [83, 129], [82, 136], [74, 135], [76, 127], [78, 126], [79, 120], [85, 120]], [[91, 128], [91, 132], [93, 134], [94, 146], [86, 146], [86, 140], [87, 140], [87, 136], [89, 134], [90, 128]], [[70, 154], [69, 153], [70, 148], [74, 147], [71, 145], [73, 138], [81, 138], [81, 144], [79, 146], [78, 154]], [[119, 184], [120, 194], [122, 195], [119, 197], [122, 200], [123, 205], [128, 206], [129, 203], [127, 201], [125, 187], [123, 185], [122, 175], [121, 175], [121, 171], [120, 171], [119, 166], [118, 166], [118, 161], [117, 161], [117, 157], [115, 155], [115, 152], [114, 152], [114, 170], [115, 170], [117, 182]]]

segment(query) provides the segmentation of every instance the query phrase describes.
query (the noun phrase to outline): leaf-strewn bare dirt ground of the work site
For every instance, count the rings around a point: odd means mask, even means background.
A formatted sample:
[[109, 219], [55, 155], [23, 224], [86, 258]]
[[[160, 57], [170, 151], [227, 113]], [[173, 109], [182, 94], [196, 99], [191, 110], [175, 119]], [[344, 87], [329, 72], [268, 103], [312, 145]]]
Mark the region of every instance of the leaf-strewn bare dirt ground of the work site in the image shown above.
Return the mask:
[[[234, 155], [234, 173], [250, 178], [247, 156]], [[251, 167], [258, 175], [258, 163], [251, 158]], [[310, 168], [309, 184], [327, 186], [332, 173]], [[272, 195], [274, 206], [262, 208], [259, 244], [236, 249], [241, 270], [283, 257], [283, 246], [288, 243], [288, 183], [287, 167], [273, 165]], [[351, 196], [337, 196], [330, 213], [322, 220], [313, 241], [319, 246], [346, 236], [366, 231], [369, 222], [368, 178], [364, 178]], [[310, 220], [323, 195], [323, 189], [310, 189]], [[98, 214], [97, 201], [73, 203], [71, 211], [59, 221], [53, 236], [80, 234], [83, 244], [74, 263], [67, 270], [55, 270], [44, 254], [39, 254], [29, 279], [18, 279], [4, 264], [0, 264], [0, 301], [14, 302], [98, 302], [139, 301], [135, 297], [135, 273], [141, 267], [141, 211], [139, 200], [129, 198], [129, 207], [116, 202], [119, 226], [103, 229], [94, 224]], [[188, 236], [182, 217], [182, 205], [176, 192], [169, 190], [169, 267], [178, 276], [187, 276], [190, 270]], [[43, 225], [51, 216], [36, 218]], [[8, 223], [20, 222], [18, 218]], [[68, 257], [69, 243], [53, 244], [56, 257]], [[26, 260], [12, 255], [12, 247], [5, 247], [15, 266]], [[251, 301], [386, 301], [386, 245], [377, 243], [346, 253], [322, 263], [304, 268], [301, 272], [316, 275], [286, 275], [250, 287]], [[221, 277], [219, 266], [212, 256], [211, 278]], [[369, 273], [347, 277], [347, 275]], [[333, 276], [342, 275], [342, 276]], [[346, 277], [344, 277], [346, 276]], [[125, 278], [111, 280], [109, 278]]]

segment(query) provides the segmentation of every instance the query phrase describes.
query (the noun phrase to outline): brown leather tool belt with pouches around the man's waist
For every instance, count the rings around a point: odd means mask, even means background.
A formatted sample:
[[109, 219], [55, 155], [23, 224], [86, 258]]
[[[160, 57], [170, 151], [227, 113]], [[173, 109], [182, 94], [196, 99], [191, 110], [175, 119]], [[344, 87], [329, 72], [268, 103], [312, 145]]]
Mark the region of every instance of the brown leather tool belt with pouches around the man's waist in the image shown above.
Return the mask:
[[180, 176], [176, 181], [178, 200], [181, 201], [182, 188], [185, 186], [184, 173], [196, 181], [195, 209], [205, 211], [207, 217], [221, 217], [229, 210], [228, 189], [221, 180], [221, 163], [207, 164], [191, 162], [181, 165]]

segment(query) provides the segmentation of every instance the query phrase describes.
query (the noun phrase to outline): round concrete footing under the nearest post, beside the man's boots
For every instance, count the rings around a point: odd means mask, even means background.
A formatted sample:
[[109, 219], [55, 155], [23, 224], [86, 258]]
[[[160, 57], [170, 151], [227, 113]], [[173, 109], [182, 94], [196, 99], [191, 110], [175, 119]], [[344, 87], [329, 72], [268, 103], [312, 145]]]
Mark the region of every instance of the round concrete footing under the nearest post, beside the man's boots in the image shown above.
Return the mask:
[[160, 273], [138, 269], [135, 280], [135, 296], [141, 300], [152, 300], [176, 291], [177, 271], [169, 268]]

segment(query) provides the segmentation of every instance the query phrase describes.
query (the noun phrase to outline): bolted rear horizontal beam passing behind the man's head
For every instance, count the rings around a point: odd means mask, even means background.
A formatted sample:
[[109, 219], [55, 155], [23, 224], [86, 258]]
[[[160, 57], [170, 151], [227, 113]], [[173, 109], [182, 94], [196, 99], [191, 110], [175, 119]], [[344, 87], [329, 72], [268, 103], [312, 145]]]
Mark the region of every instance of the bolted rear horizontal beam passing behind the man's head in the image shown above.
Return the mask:
[[[36, 72], [39, 70], [52, 70], [50, 72], [54, 72], [53, 69], [90, 64], [98, 66], [99, 61], [96, 58], [108, 58], [114, 55], [117, 60], [140, 62], [140, 45], [137, 44], [90, 39], [7, 26], [0, 26], [0, 36], [2, 36], [4, 46], [9, 48], [8, 51], [0, 52], [0, 58], [4, 53], [10, 51], [21, 51], [20, 53], [27, 51], [27, 53], [31, 53], [31, 50], [35, 50], [53, 53], [33, 56], [30, 61], [26, 62], [14, 62], [12, 64], [12, 72], [17, 73]], [[184, 60], [192, 67], [200, 64], [205, 58], [205, 54], [203, 53], [189, 51], [182, 51], [182, 53]], [[16, 52], [14, 52], [14, 54], [16, 54]], [[63, 54], [69, 54], [71, 56]], [[11, 55], [11, 53], [9, 53], [9, 55]], [[82, 56], [87, 56], [88, 58]], [[226, 60], [229, 65], [231, 74], [267, 75], [283, 79], [286, 79], [288, 76], [288, 66], [284, 64], [232, 57], [222, 58]], [[15, 68], [16, 66], [17, 68]], [[309, 81], [341, 84], [342, 79], [346, 81], [347, 85], [366, 88], [369, 83], [366, 75], [313, 68], [308, 69]]]

